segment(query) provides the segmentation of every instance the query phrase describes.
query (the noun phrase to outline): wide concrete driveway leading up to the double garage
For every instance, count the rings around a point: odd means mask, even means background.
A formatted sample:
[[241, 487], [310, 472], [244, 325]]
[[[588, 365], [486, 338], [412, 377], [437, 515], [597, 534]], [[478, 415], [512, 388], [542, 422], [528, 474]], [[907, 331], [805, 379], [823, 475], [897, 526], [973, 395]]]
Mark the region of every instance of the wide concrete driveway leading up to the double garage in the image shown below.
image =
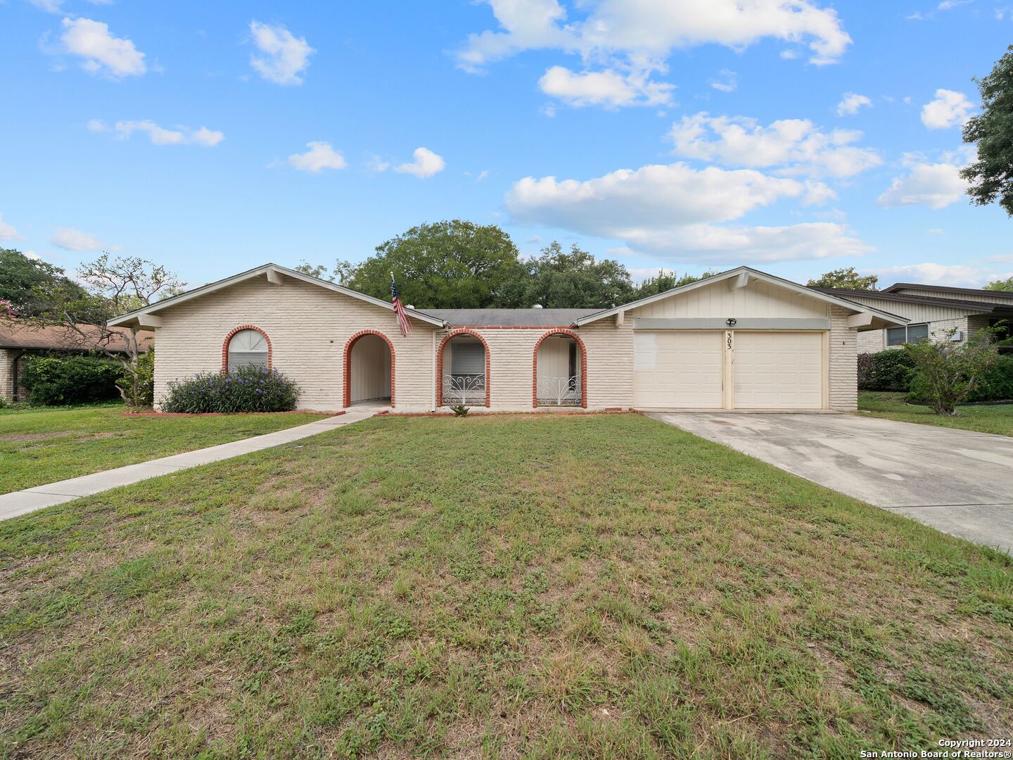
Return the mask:
[[1013, 438], [857, 414], [649, 416], [947, 533], [1013, 551]]

